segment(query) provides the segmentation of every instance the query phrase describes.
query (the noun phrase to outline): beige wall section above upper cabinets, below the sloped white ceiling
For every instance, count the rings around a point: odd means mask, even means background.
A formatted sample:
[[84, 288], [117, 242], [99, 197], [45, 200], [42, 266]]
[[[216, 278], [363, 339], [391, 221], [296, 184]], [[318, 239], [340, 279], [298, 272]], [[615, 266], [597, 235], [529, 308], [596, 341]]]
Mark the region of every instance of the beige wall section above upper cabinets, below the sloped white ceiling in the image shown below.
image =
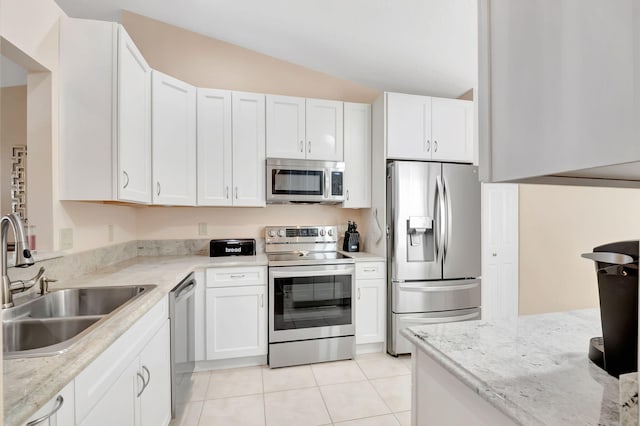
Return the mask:
[[152, 68], [198, 87], [373, 102], [380, 92], [135, 13], [122, 24]]

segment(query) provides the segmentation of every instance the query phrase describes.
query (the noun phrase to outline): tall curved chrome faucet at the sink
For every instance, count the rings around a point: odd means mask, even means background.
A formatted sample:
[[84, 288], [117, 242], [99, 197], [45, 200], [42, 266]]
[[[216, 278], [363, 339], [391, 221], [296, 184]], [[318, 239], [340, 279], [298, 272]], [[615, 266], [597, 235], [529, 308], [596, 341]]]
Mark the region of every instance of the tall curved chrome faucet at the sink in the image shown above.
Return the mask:
[[7, 262], [7, 235], [10, 226], [13, 229], [16, 240], [14, 265], [20, 268], [33, 265], [33, 257], [29, 250], [29, 243], [27, 242], [20, 216], [15, 213], [3, 216], [0, 219], [0, 271], [2, 272], [2, 293], [0, 296], [2, 297], [2, 309], [13, 306], [13, 294]]

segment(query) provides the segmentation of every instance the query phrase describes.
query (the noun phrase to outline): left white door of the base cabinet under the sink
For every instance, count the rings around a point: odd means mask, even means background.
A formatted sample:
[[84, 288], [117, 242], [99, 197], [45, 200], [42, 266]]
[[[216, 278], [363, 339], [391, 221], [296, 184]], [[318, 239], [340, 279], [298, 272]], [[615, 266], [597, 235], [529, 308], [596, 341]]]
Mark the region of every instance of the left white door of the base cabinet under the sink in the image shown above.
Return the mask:
[[122, 372], [118, 380], [109, 388], [81, 426], [134, 426], [140, 424], [136, 395], [142, 390], [142, 379], [138, 372], [138, 358], [134, 359]]

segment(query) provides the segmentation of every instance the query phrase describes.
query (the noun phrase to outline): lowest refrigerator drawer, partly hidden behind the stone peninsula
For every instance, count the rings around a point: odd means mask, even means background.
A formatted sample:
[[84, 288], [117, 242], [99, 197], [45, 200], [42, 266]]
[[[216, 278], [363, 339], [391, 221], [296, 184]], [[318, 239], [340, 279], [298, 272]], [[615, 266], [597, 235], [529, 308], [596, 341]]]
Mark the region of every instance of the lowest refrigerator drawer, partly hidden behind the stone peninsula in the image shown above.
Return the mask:
[[391, 314], [391, 333], [388, 339], [387, 350], [392, 355], [408, 354], [411, 352], [411, 344], [400, 334], [400, 330], [404, 328], [417, 325], [478, 320], [480, 319], [480, 313], [480, 308], [474, 308], [419, 314]]

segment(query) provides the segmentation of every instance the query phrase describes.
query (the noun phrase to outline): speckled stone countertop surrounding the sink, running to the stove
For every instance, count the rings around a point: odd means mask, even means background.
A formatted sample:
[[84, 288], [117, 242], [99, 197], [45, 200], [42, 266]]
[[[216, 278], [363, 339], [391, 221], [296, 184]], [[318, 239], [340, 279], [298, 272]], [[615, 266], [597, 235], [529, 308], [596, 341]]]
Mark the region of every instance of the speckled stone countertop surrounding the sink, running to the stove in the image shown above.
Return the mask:
[[265, 255], [136, 257], [51, 285], [52, 289], [135, 284], [158, 287], [104, 321], [60, 355], [4, 360], [4, 425], [24, 424], [190, 272], [209, 267], [265, 265]]

